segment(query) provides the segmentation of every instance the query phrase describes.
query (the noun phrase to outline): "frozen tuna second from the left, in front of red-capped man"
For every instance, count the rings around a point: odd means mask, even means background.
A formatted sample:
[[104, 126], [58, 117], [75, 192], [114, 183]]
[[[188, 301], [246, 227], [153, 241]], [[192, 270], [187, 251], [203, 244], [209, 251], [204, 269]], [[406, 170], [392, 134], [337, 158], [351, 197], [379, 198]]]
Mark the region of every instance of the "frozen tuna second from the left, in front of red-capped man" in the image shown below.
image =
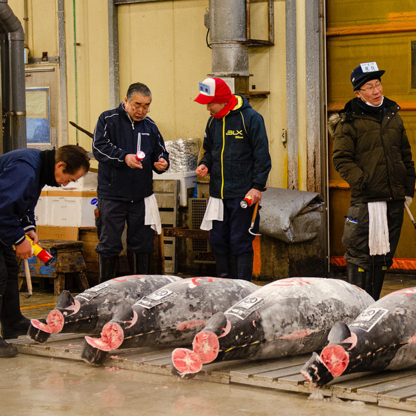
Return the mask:
[[101, 364], [112, 349], [191, 344], [216, 312], [258, 289], [254, 283], [218, 277], [172, 282], [114, 314], [101, 338], [85, 337], [81, 358]]

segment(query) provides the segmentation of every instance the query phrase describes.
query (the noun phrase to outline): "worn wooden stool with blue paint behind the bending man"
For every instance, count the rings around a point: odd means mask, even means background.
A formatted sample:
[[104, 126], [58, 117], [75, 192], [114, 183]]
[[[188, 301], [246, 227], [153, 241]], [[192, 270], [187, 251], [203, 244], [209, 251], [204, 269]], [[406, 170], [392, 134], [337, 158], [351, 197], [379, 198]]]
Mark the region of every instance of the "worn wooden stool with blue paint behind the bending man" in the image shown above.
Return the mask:
[[[30, 275], [32, 277], [49, 277], [54, 279], [54, 295], [58, 296], [65, 289], [65, 277], [77, 274], [81, 283], [80, 288], [89, 288], [85, 276], [85, 263], [82, 257], [82, 241], [40, 240], [39, 245], [55, 257], [55, 261], [45, 266], [36, 256], [28, 259]], [[19, 273], [19, 288], [22, 286], [25, 271]]]

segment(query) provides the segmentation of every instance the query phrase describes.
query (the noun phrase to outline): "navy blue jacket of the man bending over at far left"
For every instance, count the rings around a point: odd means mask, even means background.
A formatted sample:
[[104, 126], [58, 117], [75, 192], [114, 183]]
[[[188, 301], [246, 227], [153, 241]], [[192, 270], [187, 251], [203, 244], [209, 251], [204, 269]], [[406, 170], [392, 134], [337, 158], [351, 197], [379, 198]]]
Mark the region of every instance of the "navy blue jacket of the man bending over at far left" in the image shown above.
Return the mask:
[[19, 149], [0, 156], [0, 242], [20, 244], [35, 230], [40, 183], [40, 150]]

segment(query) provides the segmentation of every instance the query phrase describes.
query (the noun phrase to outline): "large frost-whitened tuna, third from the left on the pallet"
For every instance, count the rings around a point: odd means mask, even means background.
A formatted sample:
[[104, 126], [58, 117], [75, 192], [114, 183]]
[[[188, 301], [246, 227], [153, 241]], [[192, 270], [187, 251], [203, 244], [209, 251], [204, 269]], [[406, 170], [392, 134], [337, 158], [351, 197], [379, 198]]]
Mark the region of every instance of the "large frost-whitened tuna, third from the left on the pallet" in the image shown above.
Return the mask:
[[293, 277], [271, 282], [225, 312], [172, 352], [172, 373], [192, 377], [202, 365], [231, 359], [279, 358], [322, 348], [340, 319], [351, 322], [373, 298], [343, 280]]

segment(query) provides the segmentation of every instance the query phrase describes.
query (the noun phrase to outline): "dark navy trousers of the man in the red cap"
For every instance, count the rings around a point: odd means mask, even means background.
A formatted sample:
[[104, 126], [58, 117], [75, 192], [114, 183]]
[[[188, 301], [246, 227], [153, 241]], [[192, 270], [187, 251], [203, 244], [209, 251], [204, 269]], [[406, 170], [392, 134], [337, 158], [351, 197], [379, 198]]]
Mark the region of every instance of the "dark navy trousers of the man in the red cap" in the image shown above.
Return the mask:
[[[223, 221], [213, 221], [209, 235], [211, 250], [216, 254], [239, 255], [253, 252], [254, 235], [248, 232], [253, 217], [254, 204], [241, 208], [241, 198], [223, 199]], [[260, 210], [260, 206], [258, 208]], [[257, 212], [253, 233], [258, 233], [260, 215]]]

